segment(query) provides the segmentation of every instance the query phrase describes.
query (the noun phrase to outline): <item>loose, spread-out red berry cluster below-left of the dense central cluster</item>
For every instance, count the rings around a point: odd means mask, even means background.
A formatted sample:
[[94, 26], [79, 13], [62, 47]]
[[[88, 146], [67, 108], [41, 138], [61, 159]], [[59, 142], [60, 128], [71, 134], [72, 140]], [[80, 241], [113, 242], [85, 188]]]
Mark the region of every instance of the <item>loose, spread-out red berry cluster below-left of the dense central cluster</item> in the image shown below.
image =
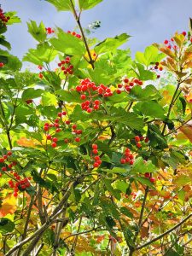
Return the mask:
[[[69, 128], [69, 125], [71, 125], [71, 121], [70, 120], [62, 120], [63, 116], [66, 116], [67, 112], [63, 111], [57, 114], [57, 118], [54, 120], [54, 122], [52, 124], [49, 123], [45, 123], [44, 124], [44, 131], [46, 133], [46, 138], [47, 140], [51, 141], [51, 147], [52, 148], [56, 148], [57, 147], [57, 142], [58, 142], [58, 138], [54, 137], [54, 135], [58, 132], [63, 131], [64, 128]], [[82, 134], [82, 130], [77, 129], [77, 125], [73, 124], [72, 125], [72, 134], [75, 135], [74, 141], [76, 143], [80, 142], [80, 136]], [[53, 131], [52, 134], [50, 134], [50, 130]], [[49, 132], [49, 133], [48, 133]], [[67, 138], [64, 139], [64, 143], [69, 143], [69, 140]]]

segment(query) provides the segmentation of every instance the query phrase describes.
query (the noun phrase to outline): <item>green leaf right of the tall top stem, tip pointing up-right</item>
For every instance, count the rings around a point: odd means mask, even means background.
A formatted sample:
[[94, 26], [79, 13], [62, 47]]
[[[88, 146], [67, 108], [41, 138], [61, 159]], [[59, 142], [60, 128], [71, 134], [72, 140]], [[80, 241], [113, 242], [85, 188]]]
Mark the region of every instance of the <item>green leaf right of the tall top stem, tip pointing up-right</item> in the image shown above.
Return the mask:
[[116, 36], [115, 38], [107, 38], [101, 43], [97, 44], [95, 47], [96, 54], [102, 54], [106, 52], [113, 52], [114, 50], [122, 45], [125, 44], [127, 39], [130, 38], [129, 35], [126, 33], [120, 34], [119, 36]]

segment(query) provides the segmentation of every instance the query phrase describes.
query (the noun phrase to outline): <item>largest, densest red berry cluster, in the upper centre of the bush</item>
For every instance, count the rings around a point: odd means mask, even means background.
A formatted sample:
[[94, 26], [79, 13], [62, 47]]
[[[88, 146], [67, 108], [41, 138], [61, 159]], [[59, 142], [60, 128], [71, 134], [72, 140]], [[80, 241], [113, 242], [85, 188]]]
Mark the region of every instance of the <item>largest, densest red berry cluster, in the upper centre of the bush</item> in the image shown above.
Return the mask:
[[93, 110], [100, 108], [101, 102], [98, 99], [94, 99], [96, 96], [113, 96], [113, 92], [110, 88], [104, 84], [96, 86], [90, 79], [82, 80], [81, 83], [76, 86], [76, 90], [80, 92], [80, 99], [84, 101], [81, 104], [81, 108], [87, 113], [91, 113]]

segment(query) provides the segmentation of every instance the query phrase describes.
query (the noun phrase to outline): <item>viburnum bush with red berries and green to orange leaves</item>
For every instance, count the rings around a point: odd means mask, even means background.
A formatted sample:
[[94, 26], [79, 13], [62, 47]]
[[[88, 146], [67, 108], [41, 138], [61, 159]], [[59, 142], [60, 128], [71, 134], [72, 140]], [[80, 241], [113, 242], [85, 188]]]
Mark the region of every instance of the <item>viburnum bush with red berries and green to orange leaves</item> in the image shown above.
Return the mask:
[[0, 255], [191, 255], [191, 27], [132, 60], [87, 38], [102, 0], [47, 2], [78, 29], [27, 23], [36, 72], [0, 9]]

